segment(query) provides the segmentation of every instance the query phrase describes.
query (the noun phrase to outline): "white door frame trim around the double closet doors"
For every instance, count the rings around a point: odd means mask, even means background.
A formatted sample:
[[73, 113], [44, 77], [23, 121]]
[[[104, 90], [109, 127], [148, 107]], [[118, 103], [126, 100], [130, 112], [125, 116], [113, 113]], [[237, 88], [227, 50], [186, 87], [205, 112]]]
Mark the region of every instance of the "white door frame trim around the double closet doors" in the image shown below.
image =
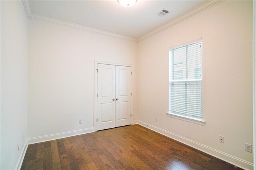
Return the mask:
[[94, 132], [97, 131], [97, 65], [98, 64], [108, 64], [108, 65], [120, 65], [120, 66], [126, 66], [126, 67], [131, 67], [131, 70], [132, 70], [132, 75], [131, 75], [131, 93], [132, 93], [132, 96], [131, 96], [131, 114], [132, 114], [132, 117], [131, 117], [131, 125], [133, 125], [133, 119], [134, 119], [134, 111], [133, 111], [133, 108], [134, 108], [134, 73], [133, 73], [133, 65], [132, 64], [123, 64], [123, 63], [114, 63], [114, 62], [108, 62], [108, 61], [97, 61], [97, 60], [94, 60]]

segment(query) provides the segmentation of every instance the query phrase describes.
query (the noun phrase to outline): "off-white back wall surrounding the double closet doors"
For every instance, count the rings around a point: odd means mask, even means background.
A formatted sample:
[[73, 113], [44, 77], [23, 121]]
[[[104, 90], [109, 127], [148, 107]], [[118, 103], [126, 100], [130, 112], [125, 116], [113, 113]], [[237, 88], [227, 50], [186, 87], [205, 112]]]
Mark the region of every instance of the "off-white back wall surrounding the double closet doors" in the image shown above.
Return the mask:
[[92, 128], [94, 60], [136, 64], [136, 42], [31, 19], [28, 46], [28, 138]]

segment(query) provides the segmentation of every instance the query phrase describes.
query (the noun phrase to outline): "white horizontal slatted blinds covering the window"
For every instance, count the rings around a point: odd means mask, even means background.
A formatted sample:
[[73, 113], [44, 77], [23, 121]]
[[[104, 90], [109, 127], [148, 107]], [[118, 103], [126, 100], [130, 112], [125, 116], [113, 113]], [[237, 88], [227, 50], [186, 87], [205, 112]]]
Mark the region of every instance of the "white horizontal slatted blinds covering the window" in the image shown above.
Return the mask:
[[170, 50], [169, 111], [202, 119], [202, 41]]

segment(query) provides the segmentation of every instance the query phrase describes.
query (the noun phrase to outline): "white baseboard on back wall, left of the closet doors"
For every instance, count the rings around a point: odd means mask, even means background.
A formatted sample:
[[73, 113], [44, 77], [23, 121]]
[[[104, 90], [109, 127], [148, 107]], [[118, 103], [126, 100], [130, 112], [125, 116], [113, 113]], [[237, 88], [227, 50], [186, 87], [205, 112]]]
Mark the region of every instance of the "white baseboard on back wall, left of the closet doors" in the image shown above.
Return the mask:
[[56, 140], [60, 138], [66, 138], [70, 136], [76, 136], [80, 134], [86, 134], [86, 133], [91, 133], [94, 132], [94, 128], [84, 128], [84, 129], [79, 129], [79, 130], [72, 130], [69, 132], [62, 132], [62, 133], [56, 133], [56, 134], [49, 134], [45, 136], [38, 136], [34, 138], [28, 138], [28, 144], [34, 144], [34, 143], [39, 143], [39, 142], [46, 142], [49, 140]]

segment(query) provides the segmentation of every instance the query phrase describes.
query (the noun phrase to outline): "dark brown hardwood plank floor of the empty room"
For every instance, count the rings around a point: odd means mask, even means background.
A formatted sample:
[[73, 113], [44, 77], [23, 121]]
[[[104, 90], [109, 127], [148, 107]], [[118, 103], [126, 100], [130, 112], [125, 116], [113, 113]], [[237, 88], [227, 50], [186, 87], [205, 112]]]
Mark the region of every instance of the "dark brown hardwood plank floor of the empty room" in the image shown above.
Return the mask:
[[30, 144], [21, 169], [240, 168], [140, 125], [131, 125]]

